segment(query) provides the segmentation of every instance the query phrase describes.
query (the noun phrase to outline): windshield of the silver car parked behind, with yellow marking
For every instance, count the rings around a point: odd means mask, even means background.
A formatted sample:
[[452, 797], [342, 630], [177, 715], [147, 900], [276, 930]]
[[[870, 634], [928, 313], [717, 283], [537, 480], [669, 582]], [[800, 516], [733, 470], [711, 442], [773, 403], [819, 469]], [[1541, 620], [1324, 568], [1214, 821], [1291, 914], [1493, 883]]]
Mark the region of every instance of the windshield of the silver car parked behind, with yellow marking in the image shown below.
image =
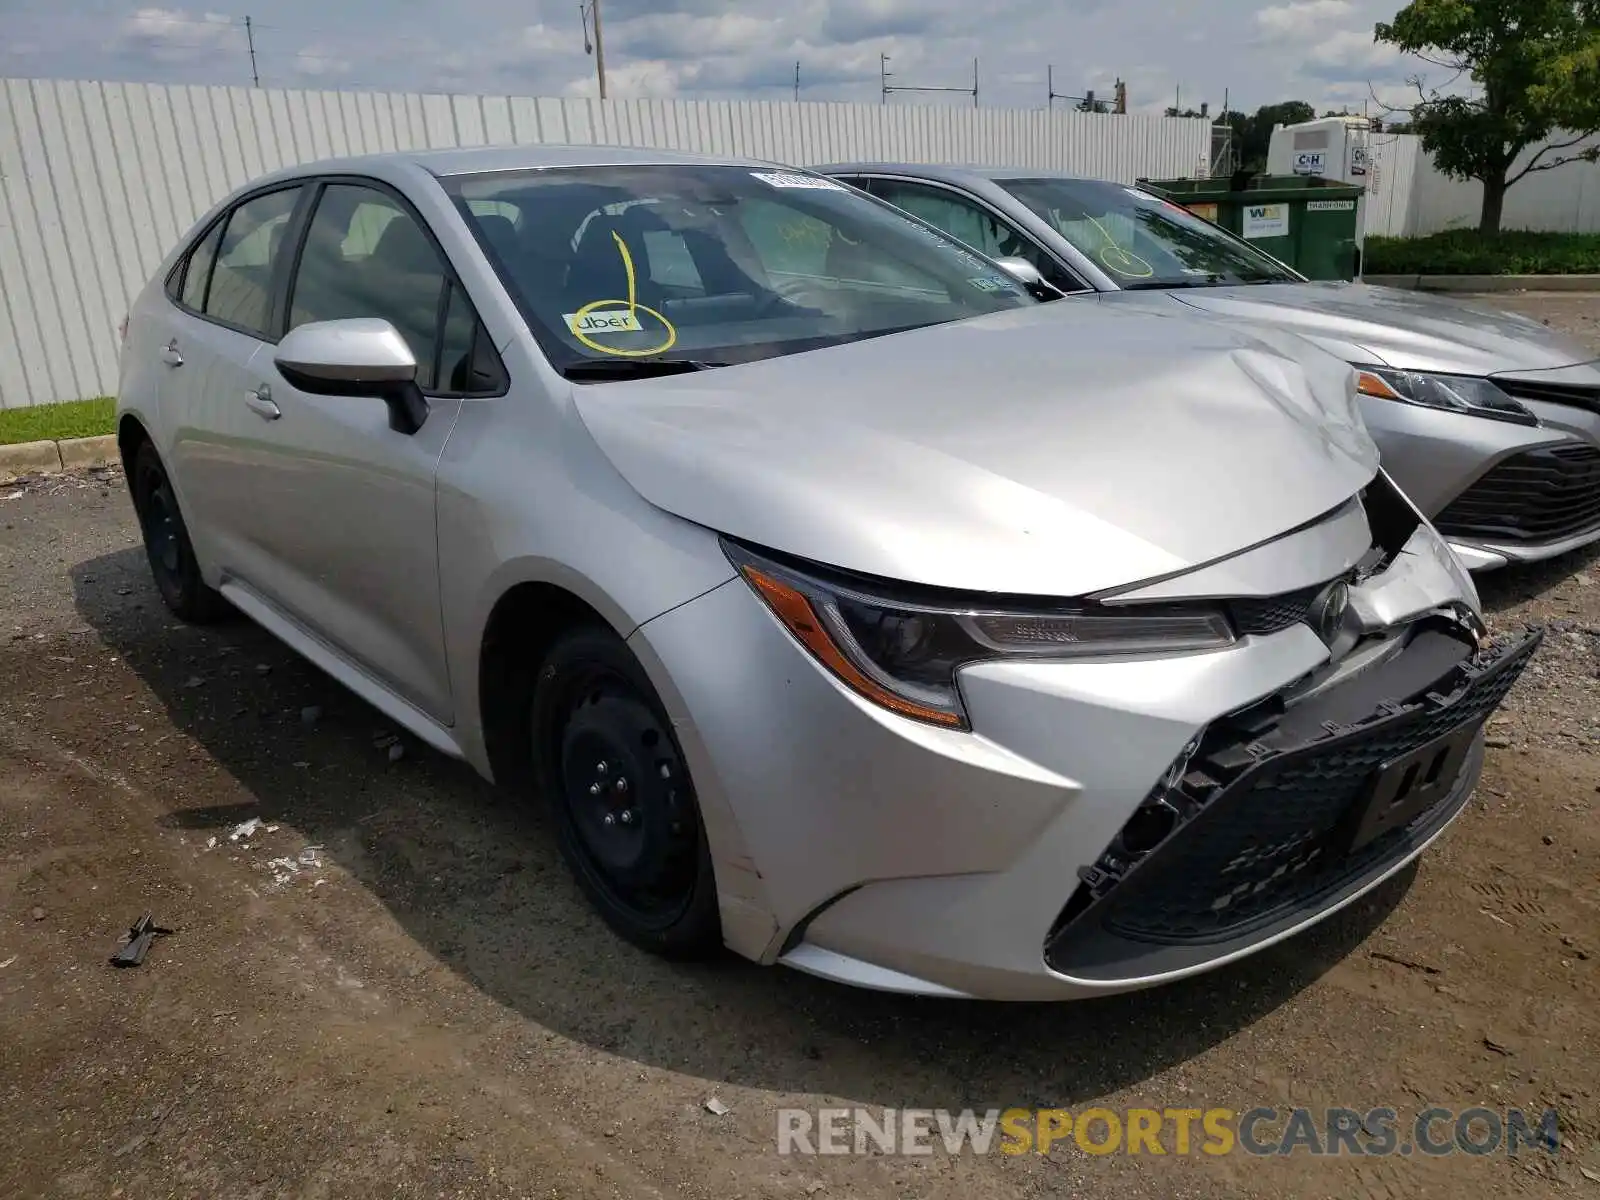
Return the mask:
[[1098, 179], [1000, 179], [1122, 288], [1293, 283], [1248, 242], [1158, 197]]

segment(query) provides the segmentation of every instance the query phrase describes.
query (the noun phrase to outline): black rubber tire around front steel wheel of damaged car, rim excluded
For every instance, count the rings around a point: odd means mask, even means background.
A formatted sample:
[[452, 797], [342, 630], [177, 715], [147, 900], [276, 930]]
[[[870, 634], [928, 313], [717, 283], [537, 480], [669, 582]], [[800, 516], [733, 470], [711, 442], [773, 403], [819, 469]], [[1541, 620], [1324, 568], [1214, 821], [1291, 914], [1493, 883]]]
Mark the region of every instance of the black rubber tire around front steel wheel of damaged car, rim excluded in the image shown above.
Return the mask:
[[[677, 744], [672, 722], [667, 718], [650, 677], [616, 634], [610, 629], [584, 627], [557, 638], [534, 675], [528, 728], [533, 750], [533, 784], [555, 819], [562, 858], [589, 902], [606, 925], [622, 938], [669, 958], [706, 957], [722, 946], [722, 922], [717, 907], [715, 869], [698, 795], [691, 797], [698, 832], [694, 883], [688, 904], [670, 925], [645, 925], [629, 909], [618, 904], [605, 885], [595, 878], [595, 867], [582, 846], [574, 816], [568, 806], [566, 789], [562, 786], [560, 760], [550, 752], [550, 734], [560, 728], [557, 722], [562, 720], [562, 709], [566, 706], [565, 693], [570, 675], [586, 666], [598, 666], [632, 685], [656, 710], [667, 736], [674, 739], [674, 750], [680, 760], [683, 758], [683, 749]], [[690, 790], [693, 794], [693, 779], [690, 779]]]

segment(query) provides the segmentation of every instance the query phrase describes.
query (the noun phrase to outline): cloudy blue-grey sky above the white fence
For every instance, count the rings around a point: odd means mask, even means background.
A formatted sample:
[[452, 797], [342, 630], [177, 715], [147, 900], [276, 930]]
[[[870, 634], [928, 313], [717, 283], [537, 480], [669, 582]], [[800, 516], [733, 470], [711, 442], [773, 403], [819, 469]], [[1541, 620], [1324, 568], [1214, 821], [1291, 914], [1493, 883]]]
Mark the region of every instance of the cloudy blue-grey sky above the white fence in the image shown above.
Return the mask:
[[[114, 0], [0, 0], [0, 75], [248, 83], [251, 13], [266, 86], [594, 94], [578, 0], [232, 0], [237, 10]], [[250, 8], [243, 5], [250, 3]], [[1136, 110], [1306, 99], [1318, 110], [1400, 101], [1426, 64], [1373, 45], [1400, 0], [600, 0], [614, 96], [878, 102], [890, 83], [970, 86], [986, 106], [1058, 93]], [[1434, 75], [1438, 75], [1437, 69]], [[1437, 82], [1443, 83], [1443, 78]], [[891, 96], [890, 102], [966, 102]]]

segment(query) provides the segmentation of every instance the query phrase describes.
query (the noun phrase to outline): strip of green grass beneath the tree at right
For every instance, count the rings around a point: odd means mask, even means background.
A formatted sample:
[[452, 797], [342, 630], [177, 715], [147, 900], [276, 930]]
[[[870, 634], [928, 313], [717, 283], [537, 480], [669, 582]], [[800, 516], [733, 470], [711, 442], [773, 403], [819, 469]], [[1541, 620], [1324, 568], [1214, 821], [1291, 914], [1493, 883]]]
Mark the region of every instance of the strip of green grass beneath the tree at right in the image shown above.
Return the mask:
[[1429, 237], [1370, 237], [1368, 275], [1592, 275], [1600, 234], [1446, 229]]

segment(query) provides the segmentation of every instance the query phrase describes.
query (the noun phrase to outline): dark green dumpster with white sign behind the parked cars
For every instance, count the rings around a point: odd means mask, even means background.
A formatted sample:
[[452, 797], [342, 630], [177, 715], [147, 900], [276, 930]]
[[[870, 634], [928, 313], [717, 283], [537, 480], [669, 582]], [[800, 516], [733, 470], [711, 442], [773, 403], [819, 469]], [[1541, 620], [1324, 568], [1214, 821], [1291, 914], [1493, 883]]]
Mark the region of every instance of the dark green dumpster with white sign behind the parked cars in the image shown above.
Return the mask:
[[1307, 278], [1358, 274], [1360, 186], [1306, 174], [1258, 174], [1141, 179], [1139, 187], [1246, 238]]

